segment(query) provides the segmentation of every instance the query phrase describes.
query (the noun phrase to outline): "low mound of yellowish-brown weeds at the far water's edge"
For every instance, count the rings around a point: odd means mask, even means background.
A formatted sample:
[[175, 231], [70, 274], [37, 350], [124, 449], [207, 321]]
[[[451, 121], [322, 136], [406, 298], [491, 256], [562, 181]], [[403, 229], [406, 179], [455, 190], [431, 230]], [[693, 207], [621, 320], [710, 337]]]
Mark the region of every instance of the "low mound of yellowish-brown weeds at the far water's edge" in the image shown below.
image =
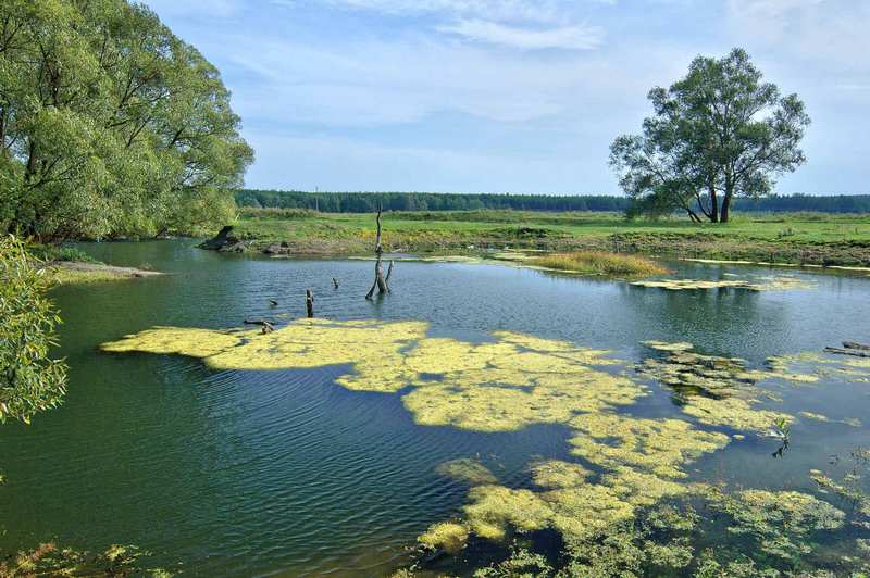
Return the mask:
[[608, 277], [639, 278], [669, 273], [667, 267], [650, 259], [606, 251], [554, 253], [534, 257], [529, 263], [544, 268]]

